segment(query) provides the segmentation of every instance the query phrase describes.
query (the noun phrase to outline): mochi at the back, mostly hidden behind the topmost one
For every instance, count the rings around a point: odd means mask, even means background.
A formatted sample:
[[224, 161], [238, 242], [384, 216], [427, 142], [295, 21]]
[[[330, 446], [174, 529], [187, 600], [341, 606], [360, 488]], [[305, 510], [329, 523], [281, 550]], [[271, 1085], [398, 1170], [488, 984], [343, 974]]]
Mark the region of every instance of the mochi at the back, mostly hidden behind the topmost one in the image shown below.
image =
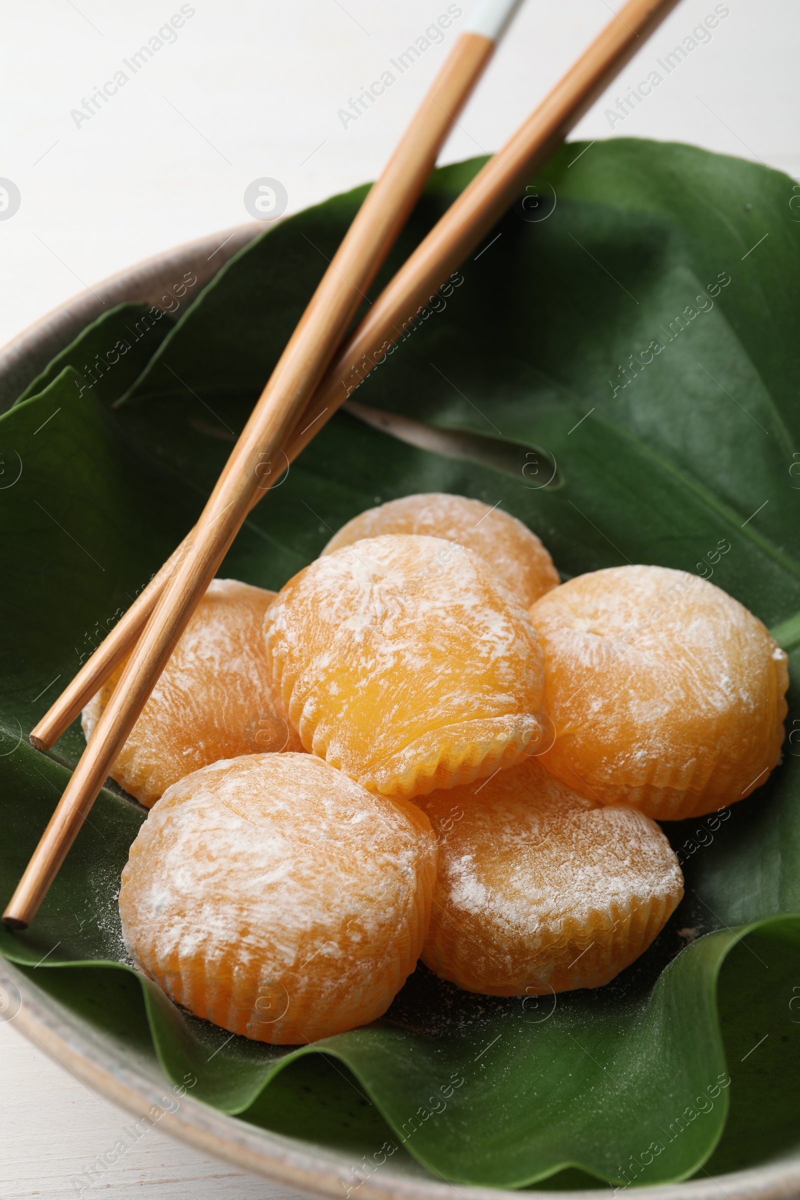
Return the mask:
[[323, 554], [385, 533], [417, 533], [457, 541], [489, 563], [525, 607], [560, 583], [553, 559], [535, 533], [501, 509], [447, 492], [389, 500], [353, 517]]

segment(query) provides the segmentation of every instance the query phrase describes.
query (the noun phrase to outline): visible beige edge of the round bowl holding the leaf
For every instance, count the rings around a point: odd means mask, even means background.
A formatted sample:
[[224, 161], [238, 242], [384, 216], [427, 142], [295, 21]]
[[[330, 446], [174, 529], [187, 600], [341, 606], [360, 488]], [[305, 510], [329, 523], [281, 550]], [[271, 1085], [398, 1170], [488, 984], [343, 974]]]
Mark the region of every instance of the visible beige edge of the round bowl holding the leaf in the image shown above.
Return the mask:
[[[103, 302], [107, 306], [125, 300], [139, 300], [169, 308], [164, 300], [176, 272], [194, 271], [205, 282], [245, 246], [260, 227], [243, 227], [211, 239], [160, 256], [157, 259], [95, 289], [88, 300], [78, 298], [55, 313], [43, 318], [5, 348], [0, 355], [0, 409], [36, 378], [47, 362], [64, 349], [85, 325], [94, 320]], [[217, 247], [215, 250], [215, 247]], [[227, 1116], [196, 1102], [191, 1094], [173, 1104], [173, 1085], [167, 1078], [152, 1044], [142, 1038], [136, 1046], [112, 1028], [102, 1028], [85, 1013], [64, 1003], [52, 990], [43, 990], [30, 972], [11, 964], [2, 964], [10, 995], [19, 994], [22, 1004], [14, 1020], [25, 1036], [43, 1045], [94, 1088], [109, 1099], [142, 1116], [157, 1109], [162, 1128], [203, 1150], [227, 1158], [239, 1166], [258, 1171], [287, 1187], [320, 1195], [348, 1196], [356, 1189], [363, 1196], [415, 1196], [438, 1200], [452, 1187], [437, 1181], [405, 1152], [398, 1152], [380, 1164], [379, 1170], [365, 1171], [362, 1157], [369, 1154], [372, 1144], [355, 1144], [348, 1151], [332, 1146], [301, 1141], [261, 1129], [247, 1121]], [[169, 1099], [169, 1104], [167, 1104]], [[360, 1172], [360, 1174], [359, 1174]], [[563, 1181], [569, 1184], [569, 1177]], [[348, 1190], [349, 1189], [349, 1190]], [[663, 1196], [718, 1196], [722, 1189], [733, 1200], [758, 1192], [762, 1198], [800, 1194], [800, 1154], [780, 1163], [722, 1176], [720, 1180], [693, 1180], [682, 1184], [655, 1188]], [[470, 1198], [500, 1196], [491, 1188], [459, 1187], [461, 1195]], [[549, 1195], [543, 1188], [530, 1189], [531, 1195]], [[564, 1189], [552, 1192], [563, 1195]], [[607, 1195], [606, 1188], [581, 1189], [590, 1198]]]

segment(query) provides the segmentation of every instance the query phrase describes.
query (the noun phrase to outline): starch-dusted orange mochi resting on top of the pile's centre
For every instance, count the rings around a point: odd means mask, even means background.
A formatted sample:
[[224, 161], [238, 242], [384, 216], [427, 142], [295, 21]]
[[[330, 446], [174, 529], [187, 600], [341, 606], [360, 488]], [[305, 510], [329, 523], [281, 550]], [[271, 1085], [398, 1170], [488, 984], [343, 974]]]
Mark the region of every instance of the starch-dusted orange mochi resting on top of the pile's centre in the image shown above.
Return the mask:
[[318, 558], [278, 593], [265, 634], [303, 746], [372, 792], [469, 782], [541, 742], [530, 618], [451, 541], [385, 534]]

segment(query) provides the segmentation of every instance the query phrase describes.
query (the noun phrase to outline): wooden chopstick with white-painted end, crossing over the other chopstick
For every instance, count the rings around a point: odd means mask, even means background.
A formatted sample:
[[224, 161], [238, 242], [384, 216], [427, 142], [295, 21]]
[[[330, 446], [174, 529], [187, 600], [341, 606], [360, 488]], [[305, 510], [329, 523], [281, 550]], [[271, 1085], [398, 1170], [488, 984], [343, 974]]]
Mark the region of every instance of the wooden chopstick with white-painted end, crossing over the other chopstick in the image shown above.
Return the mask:
[[[32, 742], [52, 745], [88, 696], [136, 649], [90, 744], [4, 913], [26, 928], [91, 808], [120, 746], [213, 577], [249, 508], [276, 478], [272, 460], [288, 440], [365, 293], [385, 260], [435, 164], [452, 125], [521, 0], [483, 0], [458, 38], [289, 340], [194, 529], [152, 586], [134, 602], [36, 727]], [[144, 626], [144, 630], [143, 630]], [[115, 635], [115, 636], [114, 636]], [[88, 684], [91, 680], [91, 685]], [[112, 697], [112, 700], [114, 698]], [[124, 701], [124, 703], [122, 703]]]

